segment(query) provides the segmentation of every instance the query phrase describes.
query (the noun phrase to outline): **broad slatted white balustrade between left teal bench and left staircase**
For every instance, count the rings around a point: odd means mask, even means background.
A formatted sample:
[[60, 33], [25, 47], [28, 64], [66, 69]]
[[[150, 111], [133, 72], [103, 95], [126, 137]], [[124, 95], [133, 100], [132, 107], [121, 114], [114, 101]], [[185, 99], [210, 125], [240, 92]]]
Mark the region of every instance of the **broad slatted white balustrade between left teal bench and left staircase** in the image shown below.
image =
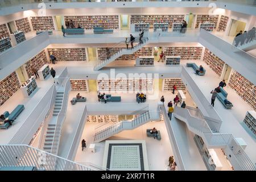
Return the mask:
[[[52, 90], [54, 86], [44, 94], [41, 100], [36, 104], [35, 108], [28, 114], [20, 129], [16, 132], [9, 144], [29, 144], [39, 126], [44, 121], [44, 117], [48, 113], [51, 104]], [[26, 110], [26, 107], [25, 107]], [[36, 118], [36, 119], [35, 119]]]

